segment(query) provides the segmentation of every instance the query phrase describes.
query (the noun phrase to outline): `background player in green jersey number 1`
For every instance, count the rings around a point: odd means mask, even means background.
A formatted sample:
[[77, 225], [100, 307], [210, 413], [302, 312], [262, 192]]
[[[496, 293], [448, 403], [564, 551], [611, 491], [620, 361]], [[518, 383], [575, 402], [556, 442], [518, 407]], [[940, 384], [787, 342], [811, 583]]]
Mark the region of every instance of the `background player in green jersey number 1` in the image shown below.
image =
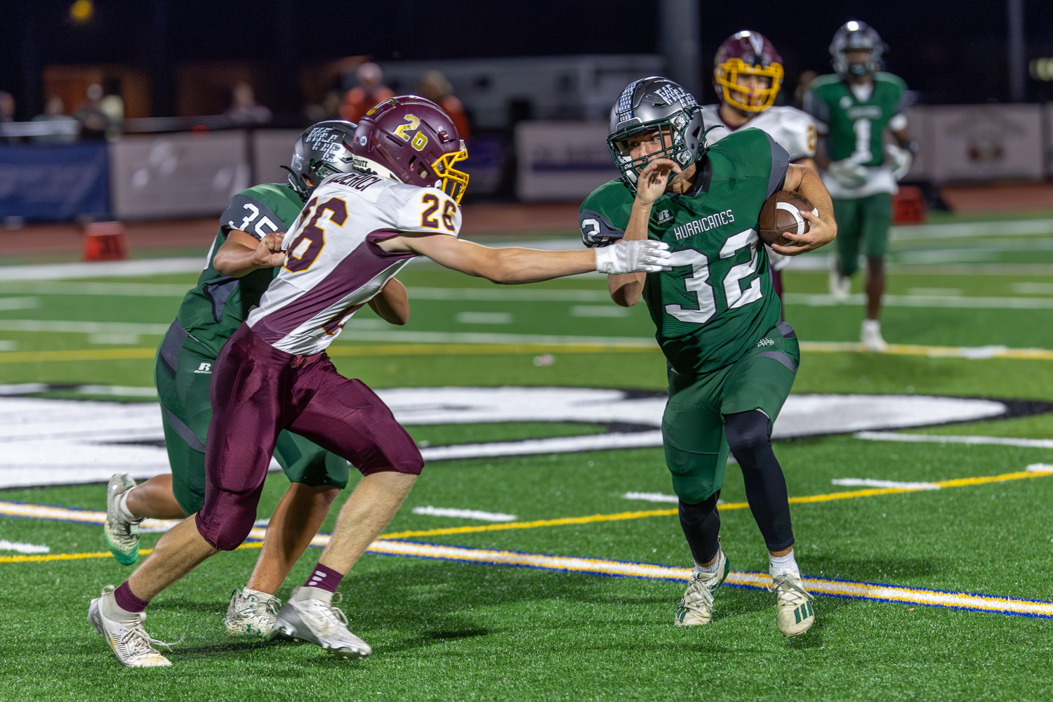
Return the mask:
[[[836, 75], [819, 76], [804, 96], [804, 109], [826, 135], [822, 180], [834, 200], [840, 227], [830, 294], [841, 301], [848, 298], [861, 240], [867, 255], [867, 318], [860, 338], [874, 352], [885, 348], [878, 314], [885, 293], [892, 196], [899, 189], [896, 183], [911, 169], [917, 151], [903, 115], [907, 85], [879, 69], [883, 52], [885, 44], [873, 27], [863, 22], [847, 23], [830, 44]], [[897, 143], [886, 143], [886, 133]]]

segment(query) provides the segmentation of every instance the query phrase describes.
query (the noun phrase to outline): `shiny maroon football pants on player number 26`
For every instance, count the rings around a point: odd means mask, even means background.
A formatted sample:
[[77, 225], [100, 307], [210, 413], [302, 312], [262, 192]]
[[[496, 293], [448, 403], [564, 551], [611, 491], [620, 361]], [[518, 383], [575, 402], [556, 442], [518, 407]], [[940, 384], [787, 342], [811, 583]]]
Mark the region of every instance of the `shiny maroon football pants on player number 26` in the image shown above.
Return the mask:
[[376, 394], [344, 378], [325, 354], [293, 356], [242, 324], [216, 358], [205, 443], [204, 505], [197, 527], [216, 548], [249, 536], [282, 429], [346, 459], [363, 475], [419, 474], [423, 459]]

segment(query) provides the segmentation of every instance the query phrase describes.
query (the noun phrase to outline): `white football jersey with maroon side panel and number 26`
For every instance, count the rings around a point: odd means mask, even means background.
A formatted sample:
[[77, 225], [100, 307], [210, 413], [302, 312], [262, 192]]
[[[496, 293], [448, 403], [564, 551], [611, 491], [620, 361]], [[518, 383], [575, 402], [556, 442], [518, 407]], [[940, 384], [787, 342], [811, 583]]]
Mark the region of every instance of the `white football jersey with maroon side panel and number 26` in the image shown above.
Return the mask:
[[384, 252], [377, 241], [402, 232], [456, 237], [460, 225], [460, 207], [438, 188], [360, 173], [331, 176], [285, 233], [285, 265], [246, 322], [280, 350], [323, 352], [415, 258]]

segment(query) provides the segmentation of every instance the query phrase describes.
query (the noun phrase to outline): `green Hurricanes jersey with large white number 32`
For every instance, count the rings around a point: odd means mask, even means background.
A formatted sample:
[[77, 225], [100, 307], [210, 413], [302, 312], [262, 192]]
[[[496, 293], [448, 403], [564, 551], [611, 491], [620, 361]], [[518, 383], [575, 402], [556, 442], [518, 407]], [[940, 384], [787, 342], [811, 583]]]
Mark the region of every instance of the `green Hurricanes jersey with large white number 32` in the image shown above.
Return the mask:
[[[643, 300], [677, 373], [734, 363], [779, 321], [757, 219], [782, 186], [789, 162], [768, 134], [740, 129], [706, 152], [690, 192], [655, 202], [649, 238], [670, 245], [673, 269], [648, 274]], [[623, 236], [633, 200], [620, 180], [593, 192], [578, 213], [584, 239]]]

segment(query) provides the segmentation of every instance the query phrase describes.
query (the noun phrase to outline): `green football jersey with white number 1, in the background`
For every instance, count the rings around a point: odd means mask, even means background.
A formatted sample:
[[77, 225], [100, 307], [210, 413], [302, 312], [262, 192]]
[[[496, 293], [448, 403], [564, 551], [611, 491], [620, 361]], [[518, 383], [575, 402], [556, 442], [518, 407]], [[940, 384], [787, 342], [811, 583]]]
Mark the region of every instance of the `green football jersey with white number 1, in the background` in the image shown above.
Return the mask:
[[903, 111], [907, 84], [888, 73], [874, 74], [869, 99], [859, 100], [835, 75], [819, 76], [809, 86], [804, 109], [827, 128], [827, 153], [833, 161], [851, 158], [857, 165], [885, 162], [885, 129]]

